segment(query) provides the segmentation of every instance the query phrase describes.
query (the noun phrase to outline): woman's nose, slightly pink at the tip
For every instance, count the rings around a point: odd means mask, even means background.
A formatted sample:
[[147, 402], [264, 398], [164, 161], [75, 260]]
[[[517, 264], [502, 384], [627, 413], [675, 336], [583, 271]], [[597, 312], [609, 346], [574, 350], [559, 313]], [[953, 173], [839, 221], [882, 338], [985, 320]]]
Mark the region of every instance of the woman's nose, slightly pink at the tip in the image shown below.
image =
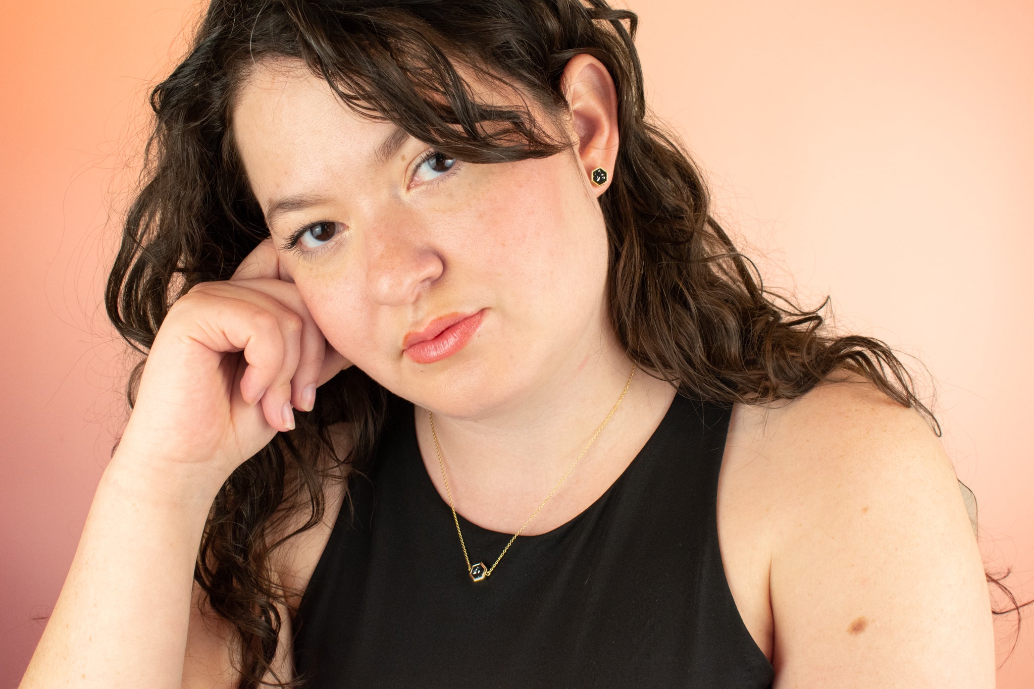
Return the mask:
[[410, 304], [442, 276], [445, 261], [428, 238], [429, 233], [412, 218], [397, 218], [368, 228], [364, 237], [366, 290], [372, 302], [385, 306]]

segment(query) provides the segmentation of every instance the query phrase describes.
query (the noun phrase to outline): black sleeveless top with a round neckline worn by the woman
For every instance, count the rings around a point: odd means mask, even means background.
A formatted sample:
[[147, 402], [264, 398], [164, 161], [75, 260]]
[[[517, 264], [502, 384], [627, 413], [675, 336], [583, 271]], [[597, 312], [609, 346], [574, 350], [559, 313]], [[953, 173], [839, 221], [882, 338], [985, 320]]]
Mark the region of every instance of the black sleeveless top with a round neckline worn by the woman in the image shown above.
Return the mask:
[[[520, 536], [475, 583], [413, 404], [395, 400], [369, 479], [352, 484], [355, 518], [346, 501], [295, 619], [304, 687], [771, 685], [718, 547], [730, 405], [676, 395], [606, 493]], [[472, 562], [494, 562], [513, 536], [459, 523]]]

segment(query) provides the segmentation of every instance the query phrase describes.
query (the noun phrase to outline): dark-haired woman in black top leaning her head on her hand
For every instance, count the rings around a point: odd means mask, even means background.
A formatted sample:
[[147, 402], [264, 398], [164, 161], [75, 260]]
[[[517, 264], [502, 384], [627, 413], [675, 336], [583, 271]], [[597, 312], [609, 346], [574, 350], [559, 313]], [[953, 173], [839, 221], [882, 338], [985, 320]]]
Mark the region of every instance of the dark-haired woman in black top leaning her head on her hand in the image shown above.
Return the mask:
[[644, 120], [635, 22], [211, 4], [23, 687], [993, 686], [936, 420], [768, 299]]

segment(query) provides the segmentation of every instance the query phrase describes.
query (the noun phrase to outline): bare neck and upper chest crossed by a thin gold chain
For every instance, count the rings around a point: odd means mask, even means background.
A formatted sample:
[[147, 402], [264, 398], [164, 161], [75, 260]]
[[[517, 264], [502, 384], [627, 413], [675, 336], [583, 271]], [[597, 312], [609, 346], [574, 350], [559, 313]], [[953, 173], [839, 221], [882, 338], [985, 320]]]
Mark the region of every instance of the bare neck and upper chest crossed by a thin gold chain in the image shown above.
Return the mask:
[[[585, 449], [628, 383], [632, 361], [609, 351], [568, 364], [534, 393], [475, 417], [434, 414], [457, 512], [494, 531], [512, 533], [523, 525]], [[637, 368], [606, 427], [523, 534], [555, 528], [602, 495], [652, 435], [673, 397], [670, 384]], [[446, 499], [428, 410], [418, 405], [415, 414], [424, 466]]]

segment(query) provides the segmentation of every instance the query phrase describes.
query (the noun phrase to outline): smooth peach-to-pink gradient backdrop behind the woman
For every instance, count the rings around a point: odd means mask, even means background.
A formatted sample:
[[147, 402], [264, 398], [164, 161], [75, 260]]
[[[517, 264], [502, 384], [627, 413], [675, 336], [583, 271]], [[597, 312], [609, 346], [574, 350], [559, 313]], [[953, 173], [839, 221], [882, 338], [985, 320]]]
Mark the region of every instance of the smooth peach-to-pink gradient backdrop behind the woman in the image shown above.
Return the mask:
[[[930, 367], [982, 549], [1034, 596], [1034, 5], [631, 0], [649, 100], [766, 284]], [[149, 85], [199, 6], [5, 8], [0, 687], [21, 678], [125, 418], [100, 306]], [[914, 359], [906, 358], [914, 364]], [[921, 374], [921, 369], [913, 367]], [[131, 546], [131, 544], [127, 544]], [[1034, 616], [999, 687], [1034, 686]], [[999, 621], [1008, 640], [1014, 617]], [[1004, 647], [1004, 641], [1000, 644]], [[1000, 658], [1004, 657], [1000, 652]]]

